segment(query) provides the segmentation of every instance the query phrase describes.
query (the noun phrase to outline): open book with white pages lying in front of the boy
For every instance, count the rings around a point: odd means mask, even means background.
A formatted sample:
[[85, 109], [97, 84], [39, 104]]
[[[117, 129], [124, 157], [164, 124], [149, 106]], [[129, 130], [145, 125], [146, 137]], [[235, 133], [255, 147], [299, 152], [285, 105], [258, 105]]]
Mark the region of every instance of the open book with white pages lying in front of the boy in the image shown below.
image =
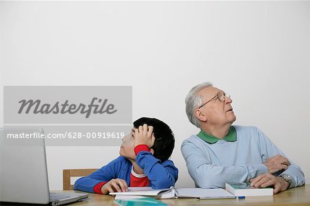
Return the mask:
[[202, 189], [202, 188], [180, 188], [174, 187], [163, 190], [152, 190], [152, 187], [128, 187], [127, 192], [110, 192], [111, 195], [116, 195], [116, 200], [130, 198], [236, 198], [222, 188], [217, 189]]

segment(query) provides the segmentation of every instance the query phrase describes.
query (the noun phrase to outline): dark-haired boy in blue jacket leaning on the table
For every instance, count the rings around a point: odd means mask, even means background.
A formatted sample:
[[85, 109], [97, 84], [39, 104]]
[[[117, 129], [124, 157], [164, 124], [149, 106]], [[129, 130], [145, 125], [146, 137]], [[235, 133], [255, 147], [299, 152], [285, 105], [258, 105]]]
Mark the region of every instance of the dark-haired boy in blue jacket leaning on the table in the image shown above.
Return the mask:
[[159, 119], [142, 117], [122, 139], [120, 157], [78, 179], [74, 190], [109, 194], [127, 187], [168, 188], [176, 183], [178, 169], [169, 159], [174, 149], [172, 130]]

